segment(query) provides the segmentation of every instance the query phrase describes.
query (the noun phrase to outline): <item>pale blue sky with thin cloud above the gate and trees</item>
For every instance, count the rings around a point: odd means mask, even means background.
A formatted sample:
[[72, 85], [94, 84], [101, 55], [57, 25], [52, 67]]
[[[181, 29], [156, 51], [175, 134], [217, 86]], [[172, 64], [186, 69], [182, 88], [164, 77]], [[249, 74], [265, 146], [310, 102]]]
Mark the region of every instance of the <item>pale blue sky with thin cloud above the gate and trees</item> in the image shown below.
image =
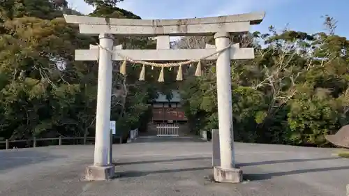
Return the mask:
[[[69, 3], [85, 14], [93, 10], [83, 0], [69, 0]], [[283, 29], [287, 24], [297, 31], [323, 31], [321, 16], [327, 14], [339, 21], [336, 33], [349, 37], [349, 0], [124, 0], [119, 3], [119, 7], [142, 19], [209, 17], [265, 11], [265, 20], [252, 29], [262, 33], [266, 33], [270, 25]]]

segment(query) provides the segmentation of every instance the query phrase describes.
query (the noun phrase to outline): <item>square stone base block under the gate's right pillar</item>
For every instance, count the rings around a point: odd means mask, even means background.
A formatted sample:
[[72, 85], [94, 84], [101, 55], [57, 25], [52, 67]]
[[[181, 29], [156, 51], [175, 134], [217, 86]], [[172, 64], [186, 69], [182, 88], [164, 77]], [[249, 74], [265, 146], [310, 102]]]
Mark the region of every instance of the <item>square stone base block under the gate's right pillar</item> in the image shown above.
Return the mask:
[[217, 182], [241, 183], [242, 169], [223, 169], [219, 166], [216, 166], [214, 167], [214, 180]]

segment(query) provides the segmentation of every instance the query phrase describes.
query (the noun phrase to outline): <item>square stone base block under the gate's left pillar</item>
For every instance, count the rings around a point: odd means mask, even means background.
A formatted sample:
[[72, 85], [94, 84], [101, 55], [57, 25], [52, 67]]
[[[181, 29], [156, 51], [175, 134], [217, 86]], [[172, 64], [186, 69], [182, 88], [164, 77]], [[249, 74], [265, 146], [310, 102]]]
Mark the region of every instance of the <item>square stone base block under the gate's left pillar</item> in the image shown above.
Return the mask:
[[90, 181], [104, 181], [112, 179], [115, 174], [114, 165], [96, 166], [89, 165], [85, 170], [85, 177]]

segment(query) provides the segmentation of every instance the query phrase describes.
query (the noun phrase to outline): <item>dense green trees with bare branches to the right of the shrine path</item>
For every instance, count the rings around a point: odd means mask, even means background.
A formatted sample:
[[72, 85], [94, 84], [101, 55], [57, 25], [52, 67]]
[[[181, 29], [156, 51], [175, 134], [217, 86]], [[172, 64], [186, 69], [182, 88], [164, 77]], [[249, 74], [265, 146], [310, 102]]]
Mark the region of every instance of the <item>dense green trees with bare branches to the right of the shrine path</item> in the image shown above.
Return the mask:
[[[239, 38], [255, 47], [255, 59], [232, 62], [236, 141], [326, 146], [325, 135], [348, 124], [349, 41], [336, 36], [332, 17], [325, 20], [327, 33], [278, 33], [270, 27], [267, 34]], [[218, 128], [215, 81], [209, 66], [205, 77], [181, 85], [193, 128]]]

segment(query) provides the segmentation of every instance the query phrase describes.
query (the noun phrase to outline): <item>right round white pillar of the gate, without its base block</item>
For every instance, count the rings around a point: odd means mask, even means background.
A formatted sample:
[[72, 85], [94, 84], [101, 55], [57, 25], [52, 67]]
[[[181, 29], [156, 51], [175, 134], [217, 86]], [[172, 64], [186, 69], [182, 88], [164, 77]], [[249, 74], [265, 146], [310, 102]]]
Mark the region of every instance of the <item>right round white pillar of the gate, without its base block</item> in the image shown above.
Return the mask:
[[[217, 50], [229, 45], [229, 33], [214, 35]], [[216, 63], [218, 126], [221, 151], [221, 168], [234, 168], [234, 139], [232, 135], [232, 84], [230, 68], [230, 49], [218, 54]]]

